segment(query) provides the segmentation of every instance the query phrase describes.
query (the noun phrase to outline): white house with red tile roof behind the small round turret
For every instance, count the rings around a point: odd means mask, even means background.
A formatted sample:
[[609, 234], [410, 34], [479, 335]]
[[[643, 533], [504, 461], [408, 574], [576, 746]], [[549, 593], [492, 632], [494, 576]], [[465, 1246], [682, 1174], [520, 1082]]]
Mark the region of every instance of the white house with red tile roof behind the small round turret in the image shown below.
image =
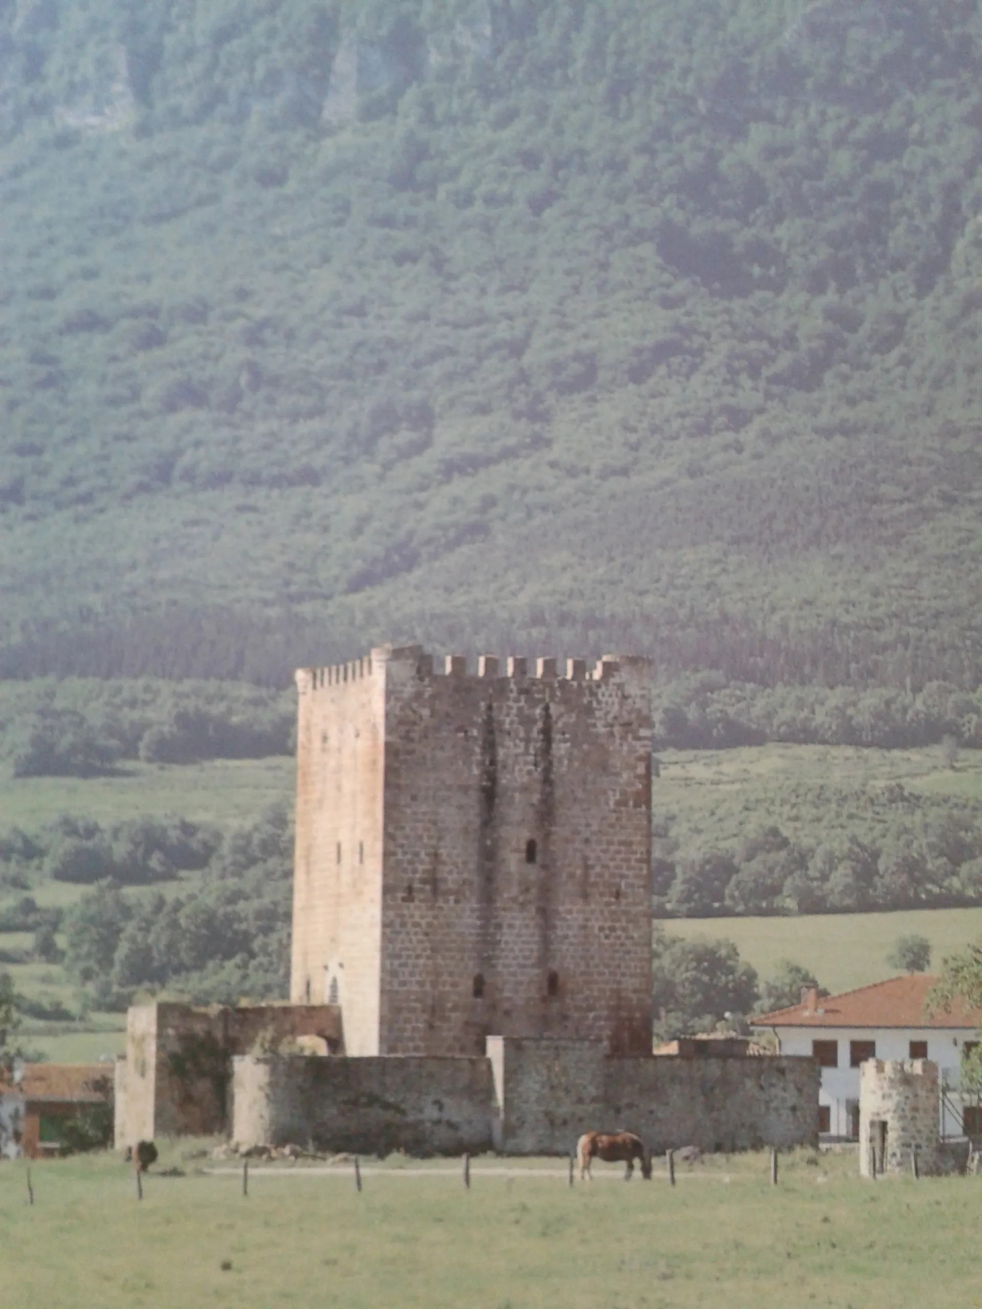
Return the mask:
[[982, 1011], [953, 1005], [928, 1014], [927, 992], [936, 982], [915, 973], [826, 996], [820, 996], [817, 987], [804, 987], [800, 1004], [761, 1014], [752, 1025], [773, 1033], [780, 1054], [818, 1060], [821, 1132], [859, 1138], [859, 1066], [864, 1059], [932, 1059], [941, 1086], [941, 1135], [978, 1136], [978, 1094], [962, 1094], [958, 1077], [962, 1054], [978, 1045]]

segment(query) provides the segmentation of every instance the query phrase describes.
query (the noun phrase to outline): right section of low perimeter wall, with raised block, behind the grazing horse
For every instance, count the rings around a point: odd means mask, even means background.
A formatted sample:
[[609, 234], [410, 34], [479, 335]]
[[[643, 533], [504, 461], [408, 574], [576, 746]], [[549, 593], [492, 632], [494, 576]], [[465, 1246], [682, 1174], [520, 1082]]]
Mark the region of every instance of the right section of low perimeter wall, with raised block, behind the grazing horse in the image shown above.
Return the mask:
[[638, 1132], [652, 1151], [818, 1141], [820, 1071], [799, 1058], [605, 1058], [587, 1042], [488, 1042], [498, 1148], [568, 1153], [588, 1130]]

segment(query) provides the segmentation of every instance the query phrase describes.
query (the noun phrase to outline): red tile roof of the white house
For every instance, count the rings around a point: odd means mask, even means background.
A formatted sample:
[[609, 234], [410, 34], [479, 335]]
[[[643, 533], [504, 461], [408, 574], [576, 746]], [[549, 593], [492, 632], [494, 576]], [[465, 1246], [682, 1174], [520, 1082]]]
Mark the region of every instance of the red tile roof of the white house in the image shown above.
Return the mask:
[[953, 1004], [927, 1013], [927, 994], [937, 978], [914, 973], [875, 982], [842, 995], [818, 996], [814, 1013], [804, 1004], [753, 1018], [754, 1028], [982, 1028], [982, 1009]]

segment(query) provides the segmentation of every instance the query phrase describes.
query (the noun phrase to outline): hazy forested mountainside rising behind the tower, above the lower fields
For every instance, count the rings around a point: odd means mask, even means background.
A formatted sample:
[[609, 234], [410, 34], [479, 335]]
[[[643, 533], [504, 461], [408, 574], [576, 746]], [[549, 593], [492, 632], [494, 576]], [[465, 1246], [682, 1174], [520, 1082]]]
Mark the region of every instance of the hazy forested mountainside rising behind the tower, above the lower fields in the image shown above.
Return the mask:
[[970, 0], [0, 0], [0, 674], [982, 682]]

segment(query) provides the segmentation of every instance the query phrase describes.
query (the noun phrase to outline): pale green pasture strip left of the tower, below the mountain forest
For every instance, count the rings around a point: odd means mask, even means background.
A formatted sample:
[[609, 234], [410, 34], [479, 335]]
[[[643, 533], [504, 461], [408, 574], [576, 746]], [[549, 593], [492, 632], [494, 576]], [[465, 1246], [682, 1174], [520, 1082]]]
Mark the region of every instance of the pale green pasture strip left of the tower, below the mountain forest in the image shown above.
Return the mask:
[[126, 818], [179, 814], [191, 822], [232, 827], [253, 822], [293, 793], [296, 763], [268, 759], [212, 759], [207, 763], [120, 766], [113, 778], [4, 778], [0, 829], [27, 830], [59, 814], [80, 814], [103, 826]]

